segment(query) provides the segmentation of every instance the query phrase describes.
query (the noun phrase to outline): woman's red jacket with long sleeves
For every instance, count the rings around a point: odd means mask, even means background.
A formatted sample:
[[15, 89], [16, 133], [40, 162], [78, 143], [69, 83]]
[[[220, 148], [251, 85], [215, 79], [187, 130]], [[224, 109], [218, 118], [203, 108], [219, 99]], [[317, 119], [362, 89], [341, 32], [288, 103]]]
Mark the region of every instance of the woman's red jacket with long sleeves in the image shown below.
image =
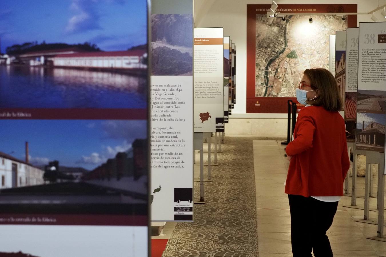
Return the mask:
[[344, 119], [322, 106], [301, 109], [294, 140], [286, 147], [289, 163], [285, 192], [291, 195], [343, 195], [350, 160]]

